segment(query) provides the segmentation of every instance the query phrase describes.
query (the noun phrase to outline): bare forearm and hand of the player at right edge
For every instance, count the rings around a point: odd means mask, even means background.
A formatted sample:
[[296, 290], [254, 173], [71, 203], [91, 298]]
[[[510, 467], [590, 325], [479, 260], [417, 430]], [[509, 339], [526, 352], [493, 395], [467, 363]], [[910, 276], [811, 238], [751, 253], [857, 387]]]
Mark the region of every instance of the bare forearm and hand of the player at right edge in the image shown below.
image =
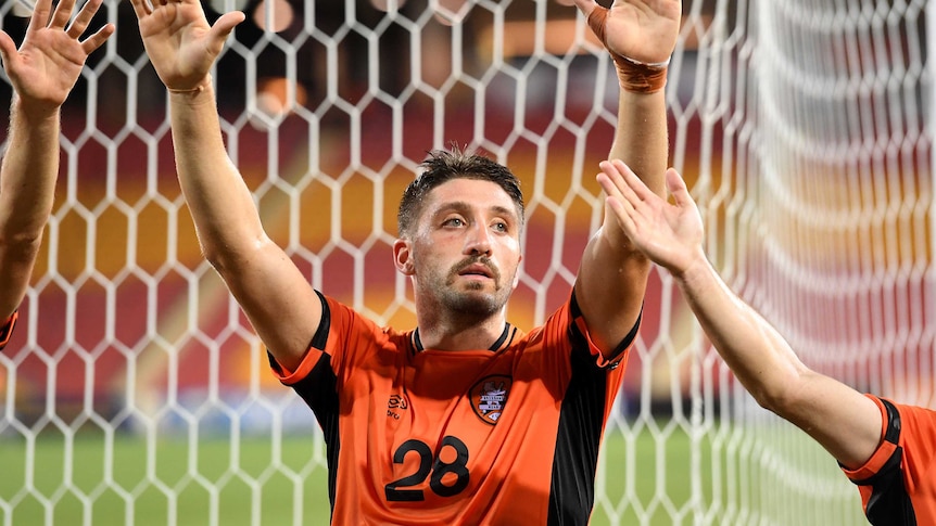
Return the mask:
[[724, 283], [703, 249], [703, 222], [685, 182], [670, 169], [674, 204], [623, 164], [605, 182], [608, 208], [634, 243], [679, 283], [703, 330], [762, 407], [792, 422], [846, 467], [863, 464], [881, 441], [881, 412], [851, 387], [807, 368], [787, 342]]

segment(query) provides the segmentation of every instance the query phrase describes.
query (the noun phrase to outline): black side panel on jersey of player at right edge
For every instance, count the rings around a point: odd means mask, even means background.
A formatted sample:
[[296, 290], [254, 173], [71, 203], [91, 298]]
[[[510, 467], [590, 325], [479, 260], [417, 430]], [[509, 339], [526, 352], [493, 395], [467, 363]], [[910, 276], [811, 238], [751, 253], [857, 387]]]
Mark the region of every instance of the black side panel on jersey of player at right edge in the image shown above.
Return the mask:
[[[900, 413], [887, 400], [881, 399], [887, 410], [887, 431], [884, 439], [897, 445], [900, 438]], [[852, 480], [858, 486], [871, 486], [871, 497], [868, 499], [864, 514], [868, 522], [874, 526], [914, 526], [916, 514], [913, 503], [907, 495], [900, 461], [903, 459], [903, 448], [897, 447], [887, 462], [873, 476]]]

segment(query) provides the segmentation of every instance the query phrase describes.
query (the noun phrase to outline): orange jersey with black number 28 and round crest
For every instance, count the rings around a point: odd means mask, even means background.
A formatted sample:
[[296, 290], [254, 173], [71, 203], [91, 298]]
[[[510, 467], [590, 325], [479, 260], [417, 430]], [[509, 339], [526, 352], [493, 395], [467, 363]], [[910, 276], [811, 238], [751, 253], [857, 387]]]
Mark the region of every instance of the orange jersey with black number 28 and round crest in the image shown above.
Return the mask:
[[627, 350], [591, 343], [574, 297], [490, 349], [422, 349], [322, 296], [299, 369], [274, 373], [315, 412], [333, 524], [586, 524]]

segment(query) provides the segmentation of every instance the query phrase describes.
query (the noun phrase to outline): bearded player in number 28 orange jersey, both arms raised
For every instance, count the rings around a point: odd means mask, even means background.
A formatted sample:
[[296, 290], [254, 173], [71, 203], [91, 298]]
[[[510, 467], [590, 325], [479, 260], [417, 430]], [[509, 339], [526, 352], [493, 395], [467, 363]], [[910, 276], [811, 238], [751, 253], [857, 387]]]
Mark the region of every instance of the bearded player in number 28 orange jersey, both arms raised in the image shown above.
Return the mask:
[[[132, 0], [169, 91], [176, 164], [205, 257], [308, 403], [327, 441], [334, 524], [586, 524], [604, 425], [638, 328], [650, 262], [614, 217], [543, 326], [506, 320], [524, 224], [519, 183], [483, 155], [433, 151], [404, 192], [394, 265], [417, 326], [377, 326], [313, 290], [276, 246], [219, 131], [208, 75], [243, 14]], [[579, 8], [618, 68], [610, 157], [665, 191], [663, 85], [678, 0]], [[617, 193], [616, 165], [597, 176]]]

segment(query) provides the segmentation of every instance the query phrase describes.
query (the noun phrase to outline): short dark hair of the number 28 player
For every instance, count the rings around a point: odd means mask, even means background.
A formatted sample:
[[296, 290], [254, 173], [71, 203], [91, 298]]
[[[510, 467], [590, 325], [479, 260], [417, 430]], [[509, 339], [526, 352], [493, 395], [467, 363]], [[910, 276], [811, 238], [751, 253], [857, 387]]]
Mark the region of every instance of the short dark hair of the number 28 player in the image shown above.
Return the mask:
[[453, 179], [491, 181], [504, 189], [517, 206], [522, 229], [523, 192], [520, 191], [520, 180], [506, 166], [482, 154], [466, 152], [458, 146], [452, 146], [450, 150], [432, 150], [419, 166], [425, 170], [406, 187], [396, 211], [396, 229], [401, 236], [412, 233], [410, 229], [422, 214], [429, 192]]

